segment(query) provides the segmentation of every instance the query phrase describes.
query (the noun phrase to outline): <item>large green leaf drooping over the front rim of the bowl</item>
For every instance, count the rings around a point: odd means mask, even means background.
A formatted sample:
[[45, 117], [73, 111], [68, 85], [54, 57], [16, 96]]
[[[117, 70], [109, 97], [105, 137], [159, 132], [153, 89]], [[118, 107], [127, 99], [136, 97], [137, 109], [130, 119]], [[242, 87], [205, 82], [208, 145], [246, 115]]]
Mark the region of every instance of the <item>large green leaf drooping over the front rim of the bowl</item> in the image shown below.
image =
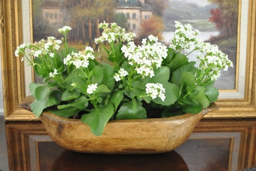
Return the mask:
[[89, 114], [83, 114], [81, 121], [90, 126], [91, 132], [100, 136], [105, 128], [105, 125], [110, 120], [114, 111], [114, 107], [111, 104], [94, 108]]

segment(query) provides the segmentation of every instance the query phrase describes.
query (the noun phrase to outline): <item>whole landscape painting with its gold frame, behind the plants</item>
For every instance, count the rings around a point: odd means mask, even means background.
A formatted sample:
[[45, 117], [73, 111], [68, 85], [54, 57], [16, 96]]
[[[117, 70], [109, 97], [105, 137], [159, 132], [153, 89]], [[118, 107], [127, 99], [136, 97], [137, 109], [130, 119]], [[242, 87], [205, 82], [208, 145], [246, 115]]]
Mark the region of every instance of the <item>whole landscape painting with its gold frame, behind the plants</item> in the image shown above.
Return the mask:
[[[97, 49], [94, 38], [99, 36], [98, 24], [103, 21], [116, 22], [135, 32], [135, 41], [153, 34], [166, 45], [171, 43], [174, 21], [190, 23], [200, 30], [201, 39], [217, 44], [234, 64], [215, 82], [220, 89], [219, 111], [205, 118], [256, 117], [256, 2], [253, 0], [95, 0], [91, 3], [84, 0], [0, 0], [0, 3], [6, 120], [38, 120], [18, 108], [18, 103], [30, 94], [29, 83], [40, 80], [30, 67], [15, 57], [16, 47], [49, 35], [58, 37], [57, 29], [69, 25], [73, 28], [68, 37], [72, 46]], [[195, 57], [196, 54], [191, 54], [191, 58]], [[104, 57], [98, 60], [104, 61]]]

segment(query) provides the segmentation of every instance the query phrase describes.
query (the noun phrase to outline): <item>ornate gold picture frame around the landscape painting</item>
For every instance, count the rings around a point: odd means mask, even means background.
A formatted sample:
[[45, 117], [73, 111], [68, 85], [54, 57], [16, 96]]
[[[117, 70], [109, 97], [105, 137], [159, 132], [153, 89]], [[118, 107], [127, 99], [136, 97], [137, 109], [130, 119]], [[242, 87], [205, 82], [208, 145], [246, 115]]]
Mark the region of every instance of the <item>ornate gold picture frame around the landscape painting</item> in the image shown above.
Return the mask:
[[[17, 46], [23, 43], [23, 17], [22, 3], [25, 0], [0, 0], [0, 56], [1, 56], [1, 73], [3, 84], [4, 113], [6, 121], [16, 120], [39, 120], [31, 112], [18, 108], [26, 96], [24, 64], [20, 58], [14, 55]], [[27, 0], [29, 1], [29, 0]], [[219, 98], [217, 105], [219, 111], [207, 114], [205, 118], [255, 118], [256, 117], [256, 1], [239, 0], [238, 18], [241, 17], [242, 3], [248, 3], [247, 20], [247, 37], [244, 44], [238, 46], [238, 53], [242, 45], [246, 45], [246, 55], [237, 59], [244, 62], [244, 76], [237, 75], [236, 88], [234, 90], [224, 90], [220, 93], [232, 95], [237, 93], [240, 80], [244, 80], [243, 97]], [[245, 9], [246, 10], [246, 9]], [[30, 9], [31, 13], [31, 9]], [[31, 14], [30, 14], [31, 15]], [[238, 20], [238, 26], [241, 19]], [[241, 37], [238, 29], [238, 41]], [[244, 35], [242, 35], [244, 36]], [[237, 63], [238, 66], [239, 63]], [[238, 70], [237, 72], [238, 73]], [[238, 84], [239, 82], [239, 84]]]

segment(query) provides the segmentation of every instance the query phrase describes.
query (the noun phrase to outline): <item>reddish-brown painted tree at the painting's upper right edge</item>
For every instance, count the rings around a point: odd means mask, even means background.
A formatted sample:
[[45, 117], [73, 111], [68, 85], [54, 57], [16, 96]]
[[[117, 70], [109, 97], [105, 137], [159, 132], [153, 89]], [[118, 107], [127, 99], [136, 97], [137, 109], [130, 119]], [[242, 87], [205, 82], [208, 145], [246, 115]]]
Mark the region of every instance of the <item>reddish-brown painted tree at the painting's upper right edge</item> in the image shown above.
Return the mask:
[[216, 9], [211, 10], [209, 21], [215, 23], [219, 33], [231, 37], [237, 34], [238, 24], [238, 0], [208, 0], [217, 4]]

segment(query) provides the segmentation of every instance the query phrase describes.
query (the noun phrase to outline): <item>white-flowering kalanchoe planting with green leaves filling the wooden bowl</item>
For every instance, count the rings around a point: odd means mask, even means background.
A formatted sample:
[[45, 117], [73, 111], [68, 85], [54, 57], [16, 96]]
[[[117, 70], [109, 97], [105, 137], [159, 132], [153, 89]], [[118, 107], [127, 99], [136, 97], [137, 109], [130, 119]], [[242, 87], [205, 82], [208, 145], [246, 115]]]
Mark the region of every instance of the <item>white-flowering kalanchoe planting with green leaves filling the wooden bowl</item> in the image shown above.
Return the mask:
[[[22, 55], [44, 79], [42, 84], [30, 83], [36, 98], [31, 109], [37, 117], [44, 109], [62, 117], [79, 117], [99, 136], [109, 120], [196, 114], [217, 100], [214, 80], [222, 69], [232, 67], [218, 46], [198, 39], [198, 30], [189, 24], [176, 22], [169, 47], [152, 35], [136, 46], [135, 34], [116, 23], [110, 27], [101, 23], [99, 28], [102, 36], [95, 43], [101, 44], [112, 65], [98, 63], [91, 47], [82, 51], [69, 47], [68, 26], [58, 30], [62, 40], [48, 37], [17, 48], [15, 55]], [[193, 51], [201, 51], [198, 67], [188, 57]]]

